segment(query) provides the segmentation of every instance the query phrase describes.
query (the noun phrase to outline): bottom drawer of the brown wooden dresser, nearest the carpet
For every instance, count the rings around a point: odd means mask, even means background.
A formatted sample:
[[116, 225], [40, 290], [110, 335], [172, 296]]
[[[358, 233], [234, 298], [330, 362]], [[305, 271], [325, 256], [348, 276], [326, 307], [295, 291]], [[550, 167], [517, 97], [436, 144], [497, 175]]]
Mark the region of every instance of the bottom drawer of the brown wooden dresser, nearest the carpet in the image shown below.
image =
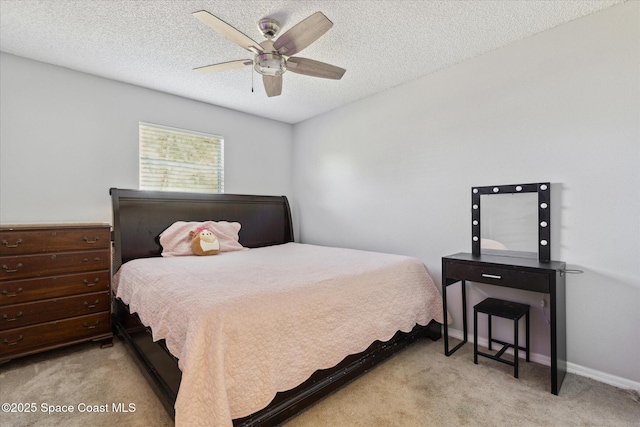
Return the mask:
[[0, 360], [111, 334], [109, 312], [0, 331]]

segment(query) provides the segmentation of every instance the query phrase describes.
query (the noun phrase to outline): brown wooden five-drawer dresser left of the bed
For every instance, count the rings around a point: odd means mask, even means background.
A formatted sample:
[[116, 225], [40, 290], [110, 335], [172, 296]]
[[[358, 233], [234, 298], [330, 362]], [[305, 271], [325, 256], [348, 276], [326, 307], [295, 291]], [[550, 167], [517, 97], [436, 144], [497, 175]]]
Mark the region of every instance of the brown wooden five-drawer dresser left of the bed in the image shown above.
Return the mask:
[[108, 224], [0, 226], [0, 363], [110, 345], [110, 267]]

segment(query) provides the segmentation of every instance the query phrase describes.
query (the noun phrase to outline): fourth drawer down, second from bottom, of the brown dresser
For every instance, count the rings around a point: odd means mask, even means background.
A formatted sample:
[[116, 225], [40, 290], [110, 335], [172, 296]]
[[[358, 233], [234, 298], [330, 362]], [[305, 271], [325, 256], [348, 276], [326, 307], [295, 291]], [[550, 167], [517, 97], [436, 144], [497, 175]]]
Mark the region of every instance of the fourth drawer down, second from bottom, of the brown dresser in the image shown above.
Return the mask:
[[109, 311], [109, 292], [95, 292], [0, 307], [0, 331], [50, 322], [52, 320]]

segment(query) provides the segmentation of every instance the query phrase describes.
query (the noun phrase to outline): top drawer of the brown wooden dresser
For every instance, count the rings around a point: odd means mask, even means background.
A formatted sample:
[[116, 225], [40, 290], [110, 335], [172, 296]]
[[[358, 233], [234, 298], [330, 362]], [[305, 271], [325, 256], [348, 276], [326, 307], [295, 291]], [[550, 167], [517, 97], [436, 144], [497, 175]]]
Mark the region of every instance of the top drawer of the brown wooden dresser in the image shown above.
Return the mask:
[[109, 248], [108, 227], [43, 228], [0, 231], [0, 256]]

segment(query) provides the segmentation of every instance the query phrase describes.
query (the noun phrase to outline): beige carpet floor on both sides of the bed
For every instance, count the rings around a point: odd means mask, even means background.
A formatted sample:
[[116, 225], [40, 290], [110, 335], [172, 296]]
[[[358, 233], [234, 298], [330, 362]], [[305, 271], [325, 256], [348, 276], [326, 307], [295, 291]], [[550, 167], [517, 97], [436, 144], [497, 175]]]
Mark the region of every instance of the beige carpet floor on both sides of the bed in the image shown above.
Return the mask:
[[[523, 362], [515, 379], [507, 365], [484, 358], [474, 365], [471, 344], [451, 357], [442, 346], [413, 344], [286, 427], [640, 426], [637, 392], [568, 374], [553, 396], [545, 366]], [[117, 340], [108, 349], [87, 343], [1, 365], [0, 403], [11, 402], [35, 403], [36, 411], [0, 412], [1, 426], [173, 425]], [[130, 403], [135, 412], [113, 411]], [[47, 414], [43, 404], [74, 412]], [[78, 412], [83, 405], [109, 412]]]

